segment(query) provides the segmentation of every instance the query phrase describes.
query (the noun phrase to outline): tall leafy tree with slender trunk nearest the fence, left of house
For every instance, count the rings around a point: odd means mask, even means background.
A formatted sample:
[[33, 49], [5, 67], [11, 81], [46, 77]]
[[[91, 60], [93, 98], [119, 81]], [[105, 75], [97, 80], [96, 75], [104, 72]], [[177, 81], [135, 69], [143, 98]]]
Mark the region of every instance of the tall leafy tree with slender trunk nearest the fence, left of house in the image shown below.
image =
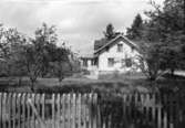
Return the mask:
[[35, 38], [30, 39], [29, 43], [20, 52], [21, 64], [25, 66], [28, 76], [31, 81], [31, 89], [34, 90], [37, 78], [42, 73], [48, 72], [49, 64], [52, 61], [52, 53], [56, 45], [56, 34], [54, 26], [42, 24], [35, 31]]

